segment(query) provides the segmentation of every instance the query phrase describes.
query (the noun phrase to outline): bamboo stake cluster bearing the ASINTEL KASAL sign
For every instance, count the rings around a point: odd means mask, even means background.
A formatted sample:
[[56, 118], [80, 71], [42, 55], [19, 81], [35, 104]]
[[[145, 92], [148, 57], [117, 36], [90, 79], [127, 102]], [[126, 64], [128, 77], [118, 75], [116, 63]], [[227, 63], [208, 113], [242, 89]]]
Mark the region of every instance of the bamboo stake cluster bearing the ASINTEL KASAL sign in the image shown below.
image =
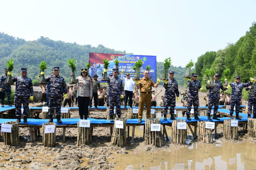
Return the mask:
[[197, 138], [199, 141], [209, 144], [213, 142], [212, 129], [205, 128], [205, 122], [208, 121], [197, 121]]

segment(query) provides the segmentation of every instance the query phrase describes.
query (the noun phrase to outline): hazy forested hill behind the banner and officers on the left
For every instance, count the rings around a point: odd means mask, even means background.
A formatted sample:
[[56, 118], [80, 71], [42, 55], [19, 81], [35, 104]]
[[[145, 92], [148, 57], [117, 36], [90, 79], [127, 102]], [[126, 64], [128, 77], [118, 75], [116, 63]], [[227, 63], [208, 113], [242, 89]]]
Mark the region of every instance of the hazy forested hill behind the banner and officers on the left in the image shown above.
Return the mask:
[[[76, 43], [65, 43], [63, 41], [53, 41], [41, 36], [34, 41], [25, 41], [24, 39], [13, 37], [8, 34], [0, 33], [0, 73], [6, 68], [7, 60], [14, 58], [14, 70], [12, 76], [20, 75], [22, 67], [28, 68], [28, 77], [38, 79], [39, 63], [41, 60], [47, 62], [48, 69], [46, 75], [52, 72], [54, 66], [60, 67], [60, 74], [69, 82], [71, 70], [67, 61], [70, 58], [77, 60], [77, 73], [80, 75], [80, 69], [89, 62], [89, 53], [115, 53], [115, 54], [133, 54], [126, 51], [116, 51], [103, 45], [92, 47], [91, 45], [78, 45]], [[167, 57], [166, 57], [167, 58]], [[157, 62], [157, 77], [161, 78], [163, 73], [163, 62]], [[175, 77], [179, 85], [184, 83], [185, 68], [171, 66], [170, 70], [175, 71]], [[2, 71], [2, 72], [1, 72]], [[163, 82], [161, 82], [163, 84]]]

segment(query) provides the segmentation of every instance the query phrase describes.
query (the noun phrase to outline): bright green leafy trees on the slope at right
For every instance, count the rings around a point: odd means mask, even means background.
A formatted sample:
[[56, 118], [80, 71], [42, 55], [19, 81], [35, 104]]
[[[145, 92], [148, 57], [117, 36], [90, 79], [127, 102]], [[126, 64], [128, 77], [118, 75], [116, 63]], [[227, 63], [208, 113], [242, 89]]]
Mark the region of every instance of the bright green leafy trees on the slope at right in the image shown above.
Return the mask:
[[195, 63], [195, 72], [198, 79], [206, 82], [205, 69], [214, 68], [220, 74], [221, 82], [225, 77], [221, 76], [223, 71], [230, 69], [229, 82], [234, 82], [236, 75], [241, 76], [241, 82], [248, 82], [250, 77], [256, 76], [256, 23], [254, 22], [246, 32], [245, 36], [239, 38], [235, 44], [228, 44], [225, 49], [219, 51], [207, 51], [198, 57]]

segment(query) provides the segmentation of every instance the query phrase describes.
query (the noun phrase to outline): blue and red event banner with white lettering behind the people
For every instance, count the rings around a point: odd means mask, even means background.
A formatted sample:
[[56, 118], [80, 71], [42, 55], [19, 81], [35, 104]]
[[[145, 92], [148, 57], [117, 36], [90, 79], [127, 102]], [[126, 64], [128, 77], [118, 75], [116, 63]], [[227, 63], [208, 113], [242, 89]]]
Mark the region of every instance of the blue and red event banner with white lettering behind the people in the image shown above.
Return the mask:
[[93, 77], [93, 75], [97, 74], [98, 80], [102, 79], [102, 73], [104, 71], [103, 60], [109, 59], [109, 68], [107, 74], [112, 73], [112, 69], [116, 68], [114, 60], [118, 58], [119, 61], [119, 72], [118, 77], [121, 77], [121, 71], [124, 70], [124, 76], [129, 73], [131, 77], [134, 77], [135, 71], [132, 69], [135, 62], [138, 60], [142, 60], [143, 66], [140, 68], [140, 77], [142, 78], [143, 72], [147, 65], [151, 66], [149, 70], [149, 76], [152, 77], [152, 80], [156, 82], [156, 56], [138, 56], [138, 55], [124, 55], [124, 54], [105, 54], [105, 53], [90, 53], [89, 54], [89, 62], [91, 67], [89, 69], [89, 74]]

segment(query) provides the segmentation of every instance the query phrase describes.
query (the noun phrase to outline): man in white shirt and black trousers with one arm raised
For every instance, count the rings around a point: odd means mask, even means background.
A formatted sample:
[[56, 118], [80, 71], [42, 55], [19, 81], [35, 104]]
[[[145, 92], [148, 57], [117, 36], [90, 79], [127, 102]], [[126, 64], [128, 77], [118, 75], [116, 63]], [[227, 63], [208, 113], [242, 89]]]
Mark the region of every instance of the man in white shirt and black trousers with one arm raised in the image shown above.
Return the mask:
[[127, 73], [126, 74], [126, 78], [123, 75], [124, 71], [122, 70], [122, 80], [125, 83], [125, 108], [127, 107], [127, 100], [129, 97], [129, 106], [130, 108], [132, 108], [132, 94], [133, 94], [133, 86], [136, 84], [136, 82], [134, 82], [131, 78], [130, 78], [130, 74]]

